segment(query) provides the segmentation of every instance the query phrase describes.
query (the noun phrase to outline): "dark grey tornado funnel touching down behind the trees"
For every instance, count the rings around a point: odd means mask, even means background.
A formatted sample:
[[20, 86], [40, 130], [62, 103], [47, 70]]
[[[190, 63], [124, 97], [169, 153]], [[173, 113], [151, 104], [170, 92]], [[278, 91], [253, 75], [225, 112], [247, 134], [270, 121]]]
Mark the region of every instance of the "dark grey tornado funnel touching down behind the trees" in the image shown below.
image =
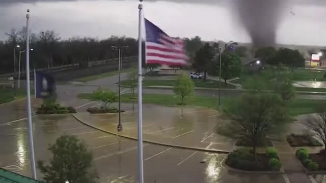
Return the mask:
[[239, 20], [255, 47], [274, 46], [283, 0], [236, 0]]

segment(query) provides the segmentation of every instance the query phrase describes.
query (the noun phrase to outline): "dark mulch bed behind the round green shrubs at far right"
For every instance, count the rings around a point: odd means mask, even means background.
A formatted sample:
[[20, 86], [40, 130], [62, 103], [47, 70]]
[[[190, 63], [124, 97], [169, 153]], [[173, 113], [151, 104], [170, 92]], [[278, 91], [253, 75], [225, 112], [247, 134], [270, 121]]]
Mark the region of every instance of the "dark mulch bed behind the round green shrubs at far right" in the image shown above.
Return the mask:
[[309, 135], [296, 135], [291, 134], [286, 137], [287, 142], [292, 147], [314, 147], [314, 146], [322, 146], [322, 144], [316, 140], [315, 138]]

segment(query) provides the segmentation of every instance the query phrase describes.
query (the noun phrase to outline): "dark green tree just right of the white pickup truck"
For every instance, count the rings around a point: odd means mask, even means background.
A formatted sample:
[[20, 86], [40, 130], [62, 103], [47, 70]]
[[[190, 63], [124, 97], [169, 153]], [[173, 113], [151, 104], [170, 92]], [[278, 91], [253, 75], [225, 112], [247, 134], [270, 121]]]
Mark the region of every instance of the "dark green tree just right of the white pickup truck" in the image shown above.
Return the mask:
[[196, 52], [195, 63], [193, 66], [198, 72], [204, 72], [204, 80], [206, 80], [206, 74], [210, 69], [213, 58], [214, 50], [208, 43], [206, 43]]

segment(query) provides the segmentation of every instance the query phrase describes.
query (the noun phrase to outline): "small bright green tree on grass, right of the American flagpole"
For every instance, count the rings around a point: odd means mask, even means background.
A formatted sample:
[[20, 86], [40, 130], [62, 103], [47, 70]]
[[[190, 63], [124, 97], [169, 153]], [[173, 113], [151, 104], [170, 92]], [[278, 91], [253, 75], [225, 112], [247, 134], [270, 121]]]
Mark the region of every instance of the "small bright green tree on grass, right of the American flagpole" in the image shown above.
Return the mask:
[[181, 74], [175, 82], [174, 93], [181, 96], [181, 105], [183, 105], [183, 98], [194, 93], [194, 82], [186, 75]]

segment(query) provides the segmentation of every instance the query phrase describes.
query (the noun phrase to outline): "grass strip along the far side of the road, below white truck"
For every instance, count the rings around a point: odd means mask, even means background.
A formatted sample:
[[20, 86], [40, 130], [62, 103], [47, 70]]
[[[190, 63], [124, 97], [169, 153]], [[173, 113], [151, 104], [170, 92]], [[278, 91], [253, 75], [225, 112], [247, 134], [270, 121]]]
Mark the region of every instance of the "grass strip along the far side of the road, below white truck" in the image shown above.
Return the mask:
[[[219, 81], [215, 80], [202, 80], [193, 79], [195, 87], [206, 87], [206, 88], [218, 88]], [[127, 81], [121, 81], [121, 85], [125, 85]], [[159, 80], [159, 79], [145, 79], [143, 82], [144, 86], [174, 86], [175, 80]], [[224, 82], [221, 82], [221, 88], [236, 88], [236, 86]]]

